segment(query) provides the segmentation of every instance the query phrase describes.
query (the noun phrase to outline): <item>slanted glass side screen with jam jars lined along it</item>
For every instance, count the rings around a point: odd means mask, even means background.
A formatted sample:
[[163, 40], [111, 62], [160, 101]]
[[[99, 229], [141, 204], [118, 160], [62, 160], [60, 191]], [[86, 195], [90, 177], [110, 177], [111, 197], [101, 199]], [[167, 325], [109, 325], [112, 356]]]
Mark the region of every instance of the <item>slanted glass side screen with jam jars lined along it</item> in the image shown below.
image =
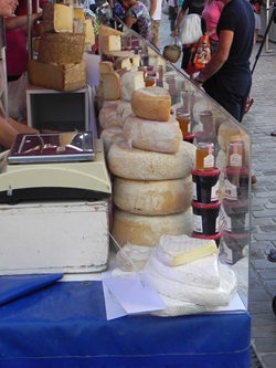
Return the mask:
[[191, 170], [191, 235], [215, 240], [220, 261], [234, 271], [238, 294], [247, 308], [251, 135], [183, 71], [126, 27], [121, 45], [139, 55], [138, 70], [145, 73], [146, 86], [157, 85], [170, 93], [171, 115], [179, 122], [183, 140], [197, 148]]

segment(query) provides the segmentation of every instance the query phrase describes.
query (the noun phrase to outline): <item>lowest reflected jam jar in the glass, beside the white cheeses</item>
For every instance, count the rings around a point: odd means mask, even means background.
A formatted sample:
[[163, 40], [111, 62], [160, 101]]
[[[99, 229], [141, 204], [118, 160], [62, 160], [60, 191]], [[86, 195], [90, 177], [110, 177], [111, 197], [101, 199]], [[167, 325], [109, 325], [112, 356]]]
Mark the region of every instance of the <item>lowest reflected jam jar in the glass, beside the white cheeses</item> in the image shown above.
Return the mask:
[[221, 254], [226, 263], [235, 264], [237, 261], [243, 259], [243, 249], [250, 244], [250, 234], [229, 233], [227, 231], [222, 232], [221, 239]]

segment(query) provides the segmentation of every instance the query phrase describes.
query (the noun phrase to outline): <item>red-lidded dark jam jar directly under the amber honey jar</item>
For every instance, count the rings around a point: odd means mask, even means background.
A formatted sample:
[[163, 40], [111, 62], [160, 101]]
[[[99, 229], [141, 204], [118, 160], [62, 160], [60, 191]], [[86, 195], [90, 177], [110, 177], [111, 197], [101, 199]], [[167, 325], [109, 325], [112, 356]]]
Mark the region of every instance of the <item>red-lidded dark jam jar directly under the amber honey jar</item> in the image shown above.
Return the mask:
[[211, 203], [219, 201], [219, 178], [221, 170], [192, 169], [193, 200], [201, 203]]

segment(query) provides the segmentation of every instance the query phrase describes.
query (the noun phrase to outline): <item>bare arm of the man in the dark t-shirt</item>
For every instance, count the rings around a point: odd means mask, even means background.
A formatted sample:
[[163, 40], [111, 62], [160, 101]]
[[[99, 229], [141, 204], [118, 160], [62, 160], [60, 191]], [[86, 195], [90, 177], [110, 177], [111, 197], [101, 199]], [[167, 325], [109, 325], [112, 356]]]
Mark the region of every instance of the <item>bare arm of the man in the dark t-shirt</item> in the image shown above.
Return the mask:
[[229, 57], [230, 49], [233, 42], [234, 32], [229, 30], [223, 30], [220, 32], [219, 49], [214, 53], [213, 57], [206, 64], [206, 66], [200, 72], [200, 74], [194, 80], [197, 85], [201, 85], [212, 75], [214, 75], [225, 63]]

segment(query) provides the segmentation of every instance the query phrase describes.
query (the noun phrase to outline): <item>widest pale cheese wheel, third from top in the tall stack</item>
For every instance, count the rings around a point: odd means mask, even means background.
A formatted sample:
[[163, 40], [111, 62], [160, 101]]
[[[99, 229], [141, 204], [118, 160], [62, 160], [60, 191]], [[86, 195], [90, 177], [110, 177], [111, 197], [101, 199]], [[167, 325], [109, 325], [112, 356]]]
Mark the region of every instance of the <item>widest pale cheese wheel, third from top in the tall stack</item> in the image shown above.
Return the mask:
[[195, 146], [187, 141], [180, 143], [177, 154], [146, 151], [117, 143], [108, 153], [108, 167], [114, 175], [126, 179], [181, 179], [191, 174], [194, 157]]

